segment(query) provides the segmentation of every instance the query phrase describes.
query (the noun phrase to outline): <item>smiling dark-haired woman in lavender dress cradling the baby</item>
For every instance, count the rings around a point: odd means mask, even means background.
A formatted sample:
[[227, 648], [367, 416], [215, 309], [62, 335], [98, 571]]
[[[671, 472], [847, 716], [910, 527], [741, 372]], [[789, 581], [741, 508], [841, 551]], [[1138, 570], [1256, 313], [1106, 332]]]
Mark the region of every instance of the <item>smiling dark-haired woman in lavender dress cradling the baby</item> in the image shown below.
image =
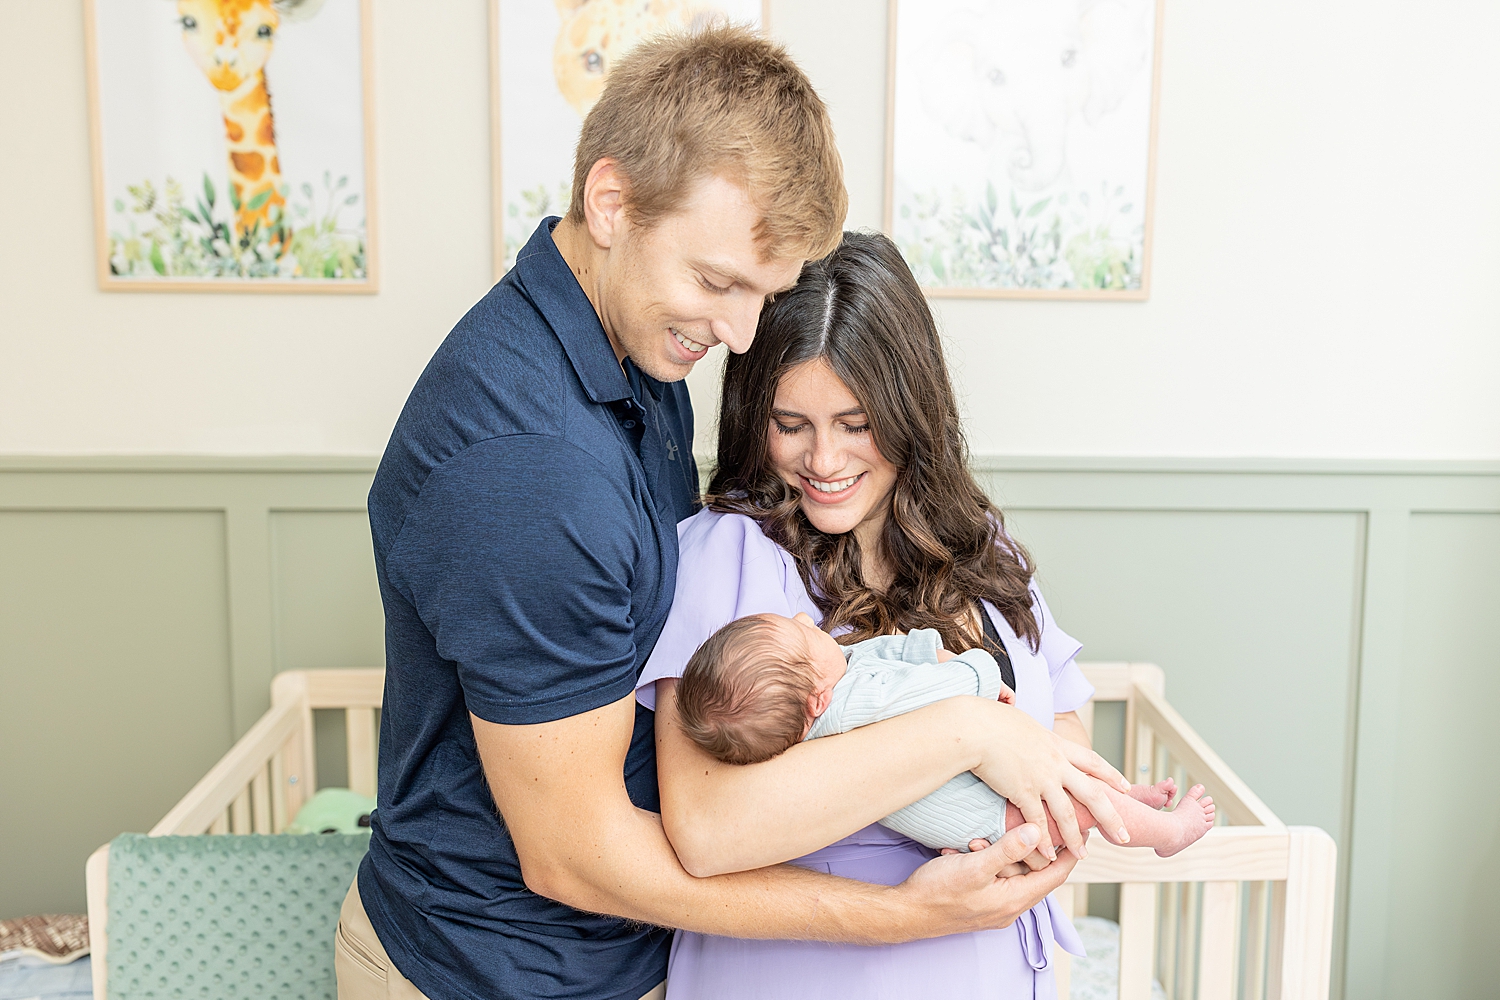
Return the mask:
[[[855, 760], [819, 747], [848, 733], [734, 768], [681, 735], [674, 688], [687, 658], [720, 625], [758, 612], [806, 612], [848, 642], [936, 628], [948, 649], [986, 646], [1020, 709], [993, 706], [996, 724], [1023, 724], [1005, 774], [980, 777], [1044, 828], [1042, 801], [1059, 826], [1071, 822], [1064, 786], [1094, 808], [1098, 781], [1071, 771], [1048, 784], [1048, 768], [1070, 768], [1023, 753], [1059, 753], [1048, 729], [1086, 745], [1074, 709], [1094, 691], [1072, 661], [1078, 643], [1032, 583], [1029, 556], [969, 475], [932, 313], [885, 237], [846, 234], [766, 306], [750, 351], [730, 355], [706, 510], [678, 534], [675, 603], [638, 696], [657, 709], [663, 822], [688, 871], [796, 858], [897, 885], [934, 856], [874, 823], [952, 777], [914, 780], [910, 739], [867, 744]], [[890, 723], [867, 729], [880, 726]], [[1089, 769], [1107, 772], [1092, 760]], [[1095, 816], [1118, 823], [1106, 808]], [[1065, 837], [1082, 853], [1076, 826]], [[1004, 930], [884, 948], [678, 933], [668, 997], [1054, 996], [1056, 945], [1080, 952], [1046, 900]]]

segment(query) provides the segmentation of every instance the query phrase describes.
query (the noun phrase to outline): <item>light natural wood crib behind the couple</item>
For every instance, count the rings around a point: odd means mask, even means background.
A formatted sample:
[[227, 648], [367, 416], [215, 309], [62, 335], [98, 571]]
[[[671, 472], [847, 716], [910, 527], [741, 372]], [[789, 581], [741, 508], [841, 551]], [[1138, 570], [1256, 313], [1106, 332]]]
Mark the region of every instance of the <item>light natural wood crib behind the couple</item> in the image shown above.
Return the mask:
[[[1286, 826], [1167, 703], [1160, 667], [1080, 664], [1095, 702], [1125, 703], [1125, 772], [1208, 787], [1218, 826], [1174, 858], [1089, 841], [1089, 858], [1058, 891], [1088, 912], [1090, 883], [1119, 883], [1120, 1000], [1324, 1000], [1334, 948], [1335, 847], [1322, 829]], [[348, 783], [375, 795], [375, 717], [384, 670], [278, 675], [272, 708], [150, 835], [278, 834], [318, 787], [314, 711], [342, 709]], [[1080, 711], [1094, 729], [1094, 703]], [[94, 997], [105, 994], [108, 846], [88, 859]], [[1059, 996], [1068, 997], [1068, 960]]]

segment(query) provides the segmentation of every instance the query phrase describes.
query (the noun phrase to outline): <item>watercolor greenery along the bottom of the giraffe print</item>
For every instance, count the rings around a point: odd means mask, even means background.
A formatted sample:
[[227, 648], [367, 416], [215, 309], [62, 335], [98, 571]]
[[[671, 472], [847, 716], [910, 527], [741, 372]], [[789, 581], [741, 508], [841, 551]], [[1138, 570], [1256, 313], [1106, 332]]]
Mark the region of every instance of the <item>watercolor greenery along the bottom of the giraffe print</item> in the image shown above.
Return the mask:
[[[150, 180], [126, 186], [129, 201], [114, 201], [122, 229], [110, 234], [110, 273], [118, 277], [249, 277], [360, 280], [364, 271], [363, 220], [342, 225], [342, 214], [360, 196], [344, 193], [350, 178], [322, 174], [322, 192], [302, 184], [282, 189], [286, 208], [272, 205], [268, 225], [234, 231], [240, 198], [232, 184], [220, 198], [202, 175], [202, 190], [188, 192], [168, 177], [158, 189]], [[246, 205], [255, 211], [270, 198], [261, 192]]]

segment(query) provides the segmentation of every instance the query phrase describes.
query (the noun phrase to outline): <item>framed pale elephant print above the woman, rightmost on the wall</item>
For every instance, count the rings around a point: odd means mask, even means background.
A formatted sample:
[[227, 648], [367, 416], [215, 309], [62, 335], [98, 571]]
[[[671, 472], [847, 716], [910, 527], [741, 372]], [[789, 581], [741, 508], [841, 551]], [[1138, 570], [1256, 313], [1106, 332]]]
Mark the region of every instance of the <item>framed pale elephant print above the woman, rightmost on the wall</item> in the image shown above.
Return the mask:
[[1161, 15], [891, 0], [885, 229], [930, 295], [1149, 295]]

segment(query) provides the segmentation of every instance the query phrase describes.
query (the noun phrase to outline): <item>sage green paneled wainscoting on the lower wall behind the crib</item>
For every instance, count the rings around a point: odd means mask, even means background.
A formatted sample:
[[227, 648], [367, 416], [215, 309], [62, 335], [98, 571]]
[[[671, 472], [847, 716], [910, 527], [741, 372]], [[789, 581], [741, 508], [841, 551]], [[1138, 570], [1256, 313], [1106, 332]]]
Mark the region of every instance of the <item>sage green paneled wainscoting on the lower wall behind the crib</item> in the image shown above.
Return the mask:
[[[976, 466], [1084, 657], [1160, 663], [1282, 819], [1338, 840], [1335, 996], [1488, 994], [1500, 463]], [[160, 817], [274, 672], [381, 663], [374, 468], [0, 460], [0, 918], [81, 910], [87, 853]]]

